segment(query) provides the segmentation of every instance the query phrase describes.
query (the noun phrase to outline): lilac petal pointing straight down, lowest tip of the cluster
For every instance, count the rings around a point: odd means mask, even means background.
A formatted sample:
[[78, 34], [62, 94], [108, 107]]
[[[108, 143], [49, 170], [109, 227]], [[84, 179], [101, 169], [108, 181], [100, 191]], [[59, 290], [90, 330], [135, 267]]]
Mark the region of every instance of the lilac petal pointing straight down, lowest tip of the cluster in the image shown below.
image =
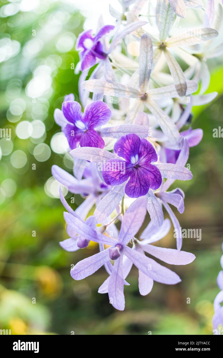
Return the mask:
[[123, 253], [114, 263], [113, 270], [108, 284], [108, 296], [110, 303], [117, 310], [125, 308], [124, 279], [122, 270]]

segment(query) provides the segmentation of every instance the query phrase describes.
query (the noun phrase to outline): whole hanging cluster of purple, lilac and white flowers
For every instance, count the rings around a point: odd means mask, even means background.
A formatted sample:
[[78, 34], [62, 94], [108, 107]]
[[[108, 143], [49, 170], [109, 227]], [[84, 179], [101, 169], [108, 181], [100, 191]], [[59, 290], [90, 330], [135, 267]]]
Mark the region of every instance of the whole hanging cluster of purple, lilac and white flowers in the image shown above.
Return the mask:
[[[208, 2], [204, 25], [183, 31], [177, 28], [178, 16], [185, 18], [185, 6], [194, 11], [203, 8], [202, 0], [157, 1], [147, 14], [150, 23], [147, 16], [139, 20], [147, 0], [120, 2], [123, 13], [110, 6], [115, 25], [104, 25], [100, 17], [95, 35], [87, 30], [77, 39], [80, 103], [70, 94], [64, 97], [62, 110], [54, 112], [70, 147], [74, 175], [57, 165], [52, 174], [71, 193], [84, 197], [73, 211], [59, 189], [69, 235], [60, 245], [77, 251], [90, 241], [99, 244], [99, 252], [76, 263], [71, 276], [81, 280], [104, 266], [108, 277], [98, 292], [108, 293], [110, 303], [123, 310], [123, 289], [129, 285], [126, 278], [133, 264], [139, 270], [140, 294], [147, 295], [154, 281], [180, 282], [175, 272], [150, 256], [171, 265], [186, 265], [195, 258], [181, 250], [179, 234], [176, 249], [153, 244], [169, 232], [171, 222], [180, 232], [170, 205], [183, 213], [184, 193], [169, 188], [175, 180], [192, 179], [186, 166], [189, 148], [203, 136], [202, 129], [190, 125], [192, 106], [217, 96], [216, 92], [204, 94], [210, 81], [205, 60], [221, 54], [223, 46], [214, 42], [219, 19], [215, 21], [212, 2]], [[210, 51], [211, 46], [215, 50]], [[187, 64], [185, 71], [182, 61]], [[164, 71], [166, 65], [170, 73]], [[164, 220], [163, 207], [171, 221]], [[148, 218], [149, 224], [137, 236]], [[219, 282], [222, 289], [222, 273]], [[215, 306], [217, 326], [222, 317], [218, 300]]]

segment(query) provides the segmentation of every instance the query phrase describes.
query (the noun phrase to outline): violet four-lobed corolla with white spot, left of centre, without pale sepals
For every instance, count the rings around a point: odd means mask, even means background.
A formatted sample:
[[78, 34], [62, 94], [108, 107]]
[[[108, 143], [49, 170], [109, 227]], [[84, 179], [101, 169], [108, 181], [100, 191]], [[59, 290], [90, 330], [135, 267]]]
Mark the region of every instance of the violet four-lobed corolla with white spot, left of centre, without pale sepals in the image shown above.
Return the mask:
[[82, 115], [78, 102], [66, 101], [63, 102], [62, 112], [67, 120], [63, 132], [71, 149], [79, 144], [81, 147], [105, 147], [105, 142], [94, 128], [106, 124], [111, 118], [111, 111], [106, 103], [92, 102], [86, 106]]

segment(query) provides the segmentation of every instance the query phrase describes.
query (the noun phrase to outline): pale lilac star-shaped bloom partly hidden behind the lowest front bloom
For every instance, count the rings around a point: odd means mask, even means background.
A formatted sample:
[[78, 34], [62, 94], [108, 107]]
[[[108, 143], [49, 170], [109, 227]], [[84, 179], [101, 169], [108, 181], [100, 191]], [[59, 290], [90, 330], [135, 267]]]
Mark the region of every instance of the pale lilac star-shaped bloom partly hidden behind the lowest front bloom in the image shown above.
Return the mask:
[[[149, 253], [150, 255], [158, 258], [159, 260], [169, 263], [171, 265], [187, 265], [188, 263], [192, 262], [195, 259], [195, 256], [192, 253], [151, 245], [152, 243], [166, 236], [166, 234], [168, 234], [170, 230], [170, 227], [171, 224], [169, 219], [165, 219], [163, 225], [160, 228], [157, 228], [152, 224], [152, 222], [150, 222], [145, 228], [145, 230], [142, 232], [139, 240], [134, 238], [132, 249], [141, 253], [142, 255], [145, 255], [145, 253]], [[131, 261], [130, 258], [124, 256], [123, 258], [124, 279], [128, 276], [132, 267], [132, 263], [133, 262]], [[148, 267], [148, 269], [150, 269], [150, 266]], [[110, 276], [108, 276], [108, 278], [99, 287], [98, 289], [99, 293], [108, 292], [109, 281], [110, 281]], [[153, 281], [154, 281], [153, 278], [149, 277], [139, 269], [139, 291], [142, 296], [145, 296], [151, 292], [154, 283]]]

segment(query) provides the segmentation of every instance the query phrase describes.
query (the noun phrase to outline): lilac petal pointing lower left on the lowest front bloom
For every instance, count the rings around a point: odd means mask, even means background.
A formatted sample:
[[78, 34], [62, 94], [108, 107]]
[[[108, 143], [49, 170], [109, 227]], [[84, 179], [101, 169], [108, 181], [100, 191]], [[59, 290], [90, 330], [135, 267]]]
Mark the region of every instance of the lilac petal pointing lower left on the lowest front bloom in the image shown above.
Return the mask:
[[79, 261], [73, 269], [71, 269], [71, 276], [74, 280], [82, 280], [100, 269], [106, 261], [108, 261], [108, 248]]

